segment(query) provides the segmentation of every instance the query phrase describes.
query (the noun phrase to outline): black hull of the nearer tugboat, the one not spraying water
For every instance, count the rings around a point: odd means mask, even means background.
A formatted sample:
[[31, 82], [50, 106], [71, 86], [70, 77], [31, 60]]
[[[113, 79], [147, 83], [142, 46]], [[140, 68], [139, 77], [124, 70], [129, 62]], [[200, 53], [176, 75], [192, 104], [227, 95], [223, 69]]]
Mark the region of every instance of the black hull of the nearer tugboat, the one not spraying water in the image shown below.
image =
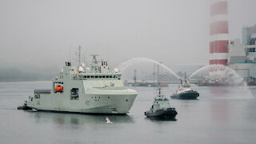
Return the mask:
[[175, 118], [177, 114], [175, 108], [156, 110], [154, 113], [151, 113], [150, 111], [145, 112], [146, 117], [150, 118]]

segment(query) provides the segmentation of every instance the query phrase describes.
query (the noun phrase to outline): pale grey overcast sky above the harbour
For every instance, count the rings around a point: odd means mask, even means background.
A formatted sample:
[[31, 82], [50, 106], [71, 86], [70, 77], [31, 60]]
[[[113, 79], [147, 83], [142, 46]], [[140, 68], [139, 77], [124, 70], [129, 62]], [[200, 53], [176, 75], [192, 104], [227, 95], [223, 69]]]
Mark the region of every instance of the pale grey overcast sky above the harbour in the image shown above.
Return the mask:
[[[229, 1], [230, 39], [256, 24], [255, 6]], [[209, 15], [207, 0], [1, 0], [0, 66], [60, 66], [79, 45], [110, 65], [208, 64]]]

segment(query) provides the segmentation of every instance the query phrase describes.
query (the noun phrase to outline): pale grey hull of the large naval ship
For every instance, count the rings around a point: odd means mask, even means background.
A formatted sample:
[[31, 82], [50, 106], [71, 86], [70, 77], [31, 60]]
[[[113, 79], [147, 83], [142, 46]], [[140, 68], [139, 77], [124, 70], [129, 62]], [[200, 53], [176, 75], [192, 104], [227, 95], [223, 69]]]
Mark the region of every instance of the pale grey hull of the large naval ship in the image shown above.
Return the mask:
[[88, 94], [81, 100], [34, 100], [30, 108], [44, 111], [85, 114], [127, 114], [137, 94]]

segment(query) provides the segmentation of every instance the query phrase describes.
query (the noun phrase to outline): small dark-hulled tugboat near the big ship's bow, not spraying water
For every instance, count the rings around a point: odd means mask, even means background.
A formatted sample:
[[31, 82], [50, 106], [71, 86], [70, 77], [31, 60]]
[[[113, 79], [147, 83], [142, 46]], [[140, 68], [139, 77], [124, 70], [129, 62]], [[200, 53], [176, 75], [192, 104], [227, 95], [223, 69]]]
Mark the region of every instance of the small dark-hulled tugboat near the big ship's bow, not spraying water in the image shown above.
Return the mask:
[[178, 114], [174, 107], [170, 106], [169, 99], [161, 92], [159, 86], [159, 94], [154, 98], [154, 103], [150, 110], [145, 112], [148, 118], [175, 118]]

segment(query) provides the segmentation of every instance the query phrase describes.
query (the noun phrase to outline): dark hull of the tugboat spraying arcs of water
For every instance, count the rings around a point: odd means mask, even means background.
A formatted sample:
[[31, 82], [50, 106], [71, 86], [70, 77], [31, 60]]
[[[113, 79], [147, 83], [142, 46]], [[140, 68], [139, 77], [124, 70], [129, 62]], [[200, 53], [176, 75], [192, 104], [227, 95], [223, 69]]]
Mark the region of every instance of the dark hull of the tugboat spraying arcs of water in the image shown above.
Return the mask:
[[186, 91], [180, 94], [173, 94], [170, 98], [174, 99], [197, 99], [199, 97], [199, 93], [194, 90]]

